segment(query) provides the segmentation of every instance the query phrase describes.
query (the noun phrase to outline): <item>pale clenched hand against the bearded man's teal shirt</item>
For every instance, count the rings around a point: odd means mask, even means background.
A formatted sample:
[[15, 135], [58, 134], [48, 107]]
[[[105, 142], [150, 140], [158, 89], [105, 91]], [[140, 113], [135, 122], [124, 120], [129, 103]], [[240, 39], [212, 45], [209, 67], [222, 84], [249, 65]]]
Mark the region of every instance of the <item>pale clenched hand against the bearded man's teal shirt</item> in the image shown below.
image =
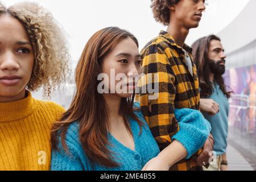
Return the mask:
[[213, 116], [214, 114], [217, 114], [220, 111], [218, 103], [209, 98], [200, 99], [200, 108], [201, 108], [201, 111], [204, 111], [211, 116]]

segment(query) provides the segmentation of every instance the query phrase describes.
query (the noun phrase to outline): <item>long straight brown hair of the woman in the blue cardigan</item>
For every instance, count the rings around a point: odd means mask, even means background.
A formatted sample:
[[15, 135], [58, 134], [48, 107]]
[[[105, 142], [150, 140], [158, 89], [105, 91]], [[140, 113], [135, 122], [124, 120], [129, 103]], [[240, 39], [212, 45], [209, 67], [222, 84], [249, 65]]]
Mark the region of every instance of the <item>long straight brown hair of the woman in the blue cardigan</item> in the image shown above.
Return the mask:
[[[137, 44], [137, 39], [126, 30], [117, 27], [107, 27], [96, 32], [86, 43], [76, 68], [76, 93], [71, 106], [62, 115], [60, 121], [52, 127], [51, 143], [53, 150], [59, 150], [59, 137], [64, 150], [68, 152], [65, 135], [73, 122], [79, 122], [79, 139], [81, 146], [91, 162], [106, 167], [117, 167], [112, 152], [108, 149], [109, 115], [102, 94], [97, 92], [97, 76], [101, 73], [102, 60], [121, 40], [131, 38]], [[126, 129], [131, 134], [127, 116], [135, 119], [139, 126], [142, 122], [133, 112], [133, 94], [130, 98], [122, 98], [119, 113], [122, 115]]]

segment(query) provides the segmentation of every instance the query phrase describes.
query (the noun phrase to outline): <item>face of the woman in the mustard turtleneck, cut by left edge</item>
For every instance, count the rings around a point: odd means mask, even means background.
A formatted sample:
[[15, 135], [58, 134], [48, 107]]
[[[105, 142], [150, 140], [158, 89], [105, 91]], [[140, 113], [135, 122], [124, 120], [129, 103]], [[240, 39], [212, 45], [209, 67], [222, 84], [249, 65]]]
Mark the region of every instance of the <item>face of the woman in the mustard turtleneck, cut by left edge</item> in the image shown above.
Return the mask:
[[34, 53], [22, 24], [12, 16], [0, 16], [0, 102], [24, 97], [34, 64]]

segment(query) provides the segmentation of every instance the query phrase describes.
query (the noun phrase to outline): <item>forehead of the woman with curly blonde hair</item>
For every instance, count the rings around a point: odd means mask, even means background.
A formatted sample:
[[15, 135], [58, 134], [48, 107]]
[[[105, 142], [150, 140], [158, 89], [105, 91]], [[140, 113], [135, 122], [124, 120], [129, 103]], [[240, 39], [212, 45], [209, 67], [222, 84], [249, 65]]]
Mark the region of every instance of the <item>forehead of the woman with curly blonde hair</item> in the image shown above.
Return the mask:
[[13, 16], [8, 14], [0, 15], [0, 24], [0, 40], [28, 41], [25, 28], [19, 20], [13, 18]]

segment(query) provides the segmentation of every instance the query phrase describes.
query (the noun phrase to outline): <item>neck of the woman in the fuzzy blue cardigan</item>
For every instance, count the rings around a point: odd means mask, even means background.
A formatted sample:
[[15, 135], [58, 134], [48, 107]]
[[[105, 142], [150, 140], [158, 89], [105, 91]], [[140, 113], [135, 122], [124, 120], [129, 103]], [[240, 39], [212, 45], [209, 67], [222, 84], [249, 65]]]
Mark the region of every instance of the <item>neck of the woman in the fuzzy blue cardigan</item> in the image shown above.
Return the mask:
[[121, 117], [119, 113], [121, 105], [121, 97], [115, 96], [114, 94], [104, 94], [104, 99], [109, 113], [109, 120], [116, 121], [117, 118]]

